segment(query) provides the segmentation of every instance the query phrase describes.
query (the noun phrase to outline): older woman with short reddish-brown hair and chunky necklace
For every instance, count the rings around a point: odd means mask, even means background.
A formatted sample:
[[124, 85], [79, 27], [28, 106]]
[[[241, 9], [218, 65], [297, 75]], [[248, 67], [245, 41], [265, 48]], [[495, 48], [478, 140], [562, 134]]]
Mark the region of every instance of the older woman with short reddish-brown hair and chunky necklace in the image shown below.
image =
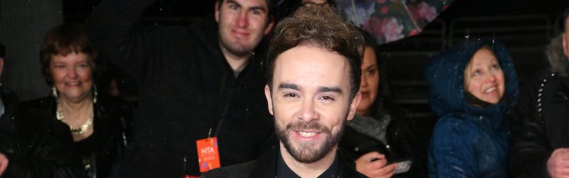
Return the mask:
[[126, 147], [126, 105], [97, 92], [95, 50], [82, 27], [61, 25], [41, 47], [52, 94], [22, 103], [8, 177], [109, 177]]

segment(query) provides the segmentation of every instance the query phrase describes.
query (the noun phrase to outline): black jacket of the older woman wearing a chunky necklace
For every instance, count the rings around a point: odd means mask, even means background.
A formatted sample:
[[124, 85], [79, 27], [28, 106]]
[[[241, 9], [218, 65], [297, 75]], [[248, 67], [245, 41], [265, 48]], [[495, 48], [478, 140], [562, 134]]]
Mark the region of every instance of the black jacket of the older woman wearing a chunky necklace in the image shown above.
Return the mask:
[[[14, 152], [3, 177], [109, 177], [126, 149], [124, 101], [99, 95], [94, 104], [94, 132], [85, 140], [91, 151], [77, 147], [69, 126], [57, 120], [57, 103], [49, 96], [22, 103], [15, 115]], [[86, 169], [89, 163], [91, 171]]]

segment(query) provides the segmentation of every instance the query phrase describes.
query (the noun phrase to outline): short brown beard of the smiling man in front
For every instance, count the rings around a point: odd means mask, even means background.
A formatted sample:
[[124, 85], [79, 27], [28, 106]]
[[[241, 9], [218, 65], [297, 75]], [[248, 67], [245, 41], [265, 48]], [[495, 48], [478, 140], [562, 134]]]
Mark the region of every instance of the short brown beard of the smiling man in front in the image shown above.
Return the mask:
[[[275, 122], [274, 127], [276, 131], [276, 136], [279, 137], [279, 140], [283, 143], [286, 151], [295, 158], [296, 161], [300, 163], [314, 163], [322, 159], [326, 154], [330, 153], [332, 149], [338, 144], [342, 137], [343, 126], [346, 120], [342, 120], [340, 129], [332, 133], [329, 128], [318, 124], [315, 121], [311, 121], [309, 123], [305, 123], [304, 121], [296, 121], [294, 123], [288, 124], [286, 128], [280, 126], [277, 122]], [[317, 131], [322, 134], [325, 134], [324, 142], [320, 147], [316, 149], [312, 147], [312, 144], [302, 144], [297, 143], [297, 148], [295, 149], [292, 145], [292, 141], [288, 137], [289, 131], [302, 131], [302, 130], [309, 130], [309, 131]]]

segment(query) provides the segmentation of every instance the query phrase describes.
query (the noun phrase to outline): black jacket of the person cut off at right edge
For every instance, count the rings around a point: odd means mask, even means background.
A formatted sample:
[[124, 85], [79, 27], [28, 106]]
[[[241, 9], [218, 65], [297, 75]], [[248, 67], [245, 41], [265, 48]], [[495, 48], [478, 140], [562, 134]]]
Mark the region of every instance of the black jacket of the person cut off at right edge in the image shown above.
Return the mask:
[[547, 159], [569, 147], [569, 77], [542, 71], [529, 80], [513, 124], [512, 177], [549, 177]]

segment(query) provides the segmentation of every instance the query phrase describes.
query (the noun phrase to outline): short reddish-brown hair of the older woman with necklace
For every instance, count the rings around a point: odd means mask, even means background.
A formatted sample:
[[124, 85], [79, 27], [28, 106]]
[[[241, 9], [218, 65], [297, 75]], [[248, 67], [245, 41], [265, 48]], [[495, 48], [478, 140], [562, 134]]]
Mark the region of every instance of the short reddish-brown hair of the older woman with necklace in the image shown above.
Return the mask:
[[58, 55], [67, 56], [72, 53], [87, 55], [87, 61], [89, 66], [91, 66], [93, 76], [94, 78], [98, 77], [98, 68], [95, 61], [97, 52], [89, 43], [84, 27], [77, 24], [61, 24], [47, 32], [41, 45], [40, 64], [47, 84], [53, 84], [51, 73], [53, 57]]

